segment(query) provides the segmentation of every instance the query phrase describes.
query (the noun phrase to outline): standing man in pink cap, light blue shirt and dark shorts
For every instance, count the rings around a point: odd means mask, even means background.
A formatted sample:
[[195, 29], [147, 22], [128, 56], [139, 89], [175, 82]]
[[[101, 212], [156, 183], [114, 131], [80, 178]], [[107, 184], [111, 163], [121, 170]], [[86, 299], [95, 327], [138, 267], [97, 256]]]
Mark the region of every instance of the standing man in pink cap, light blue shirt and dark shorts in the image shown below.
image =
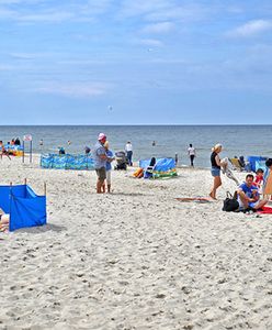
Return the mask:
[[104, 185], [104, 180], [106, 178], [105, 166], [106, 166], [106, 151], [104, 147], [104, 143], [106, 141], [106, 136], [104, 133], [100, 133], [98, 136], [98, 142], [93, 148], [93, 161], [94, 161], [94, 169], [97, 172], [98, 182], [97, 182], [97, 193], [102, 194], [102, 187]]

